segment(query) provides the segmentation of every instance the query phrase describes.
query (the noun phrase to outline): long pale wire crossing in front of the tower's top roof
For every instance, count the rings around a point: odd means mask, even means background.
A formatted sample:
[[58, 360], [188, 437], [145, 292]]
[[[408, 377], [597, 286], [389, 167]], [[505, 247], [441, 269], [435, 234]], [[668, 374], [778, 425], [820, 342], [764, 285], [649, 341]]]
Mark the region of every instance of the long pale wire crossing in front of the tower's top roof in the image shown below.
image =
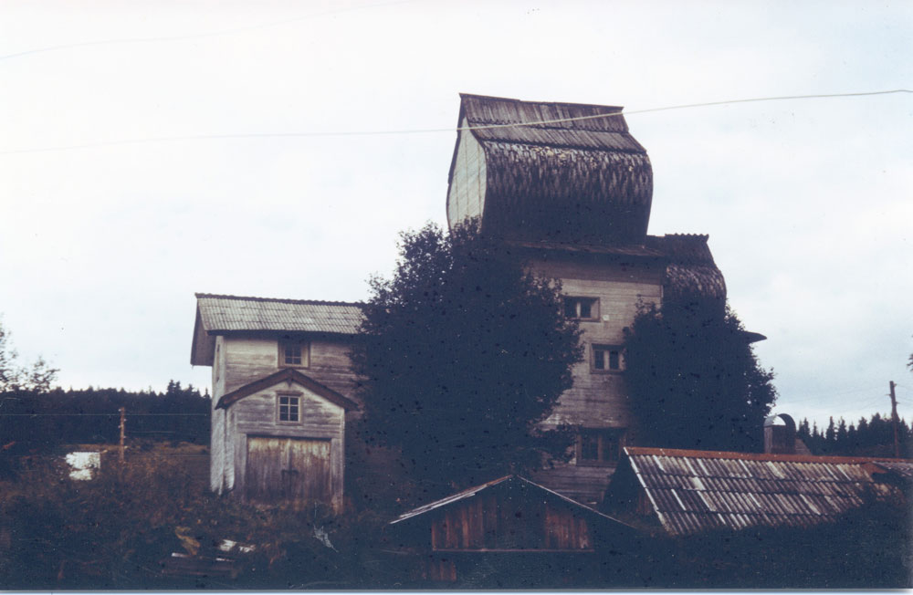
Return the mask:
[[192, 134], [184, 136], [163, 136], [150, 137], [142, 139], [124, 139], [121, 141], [99, 141], [87, 142], [72, 145], [58, 145], [55, 147], [40, 147], [37, 149], [13, 149], [0, 151], [0, 155], [13, 155], [35, 152], [49, 151], [73, 151], [77, 149], [98, 149], [101, 147], [116, 147], [131, 144], [151, 144], [155, 142], [176, 142], [176, 141], [226, 141], [226, 140], [244, 140], [244, 139], [274, 139], [274, 138], [317, 138], [317, 137], [346, 137], [346, 136], [390, 136], [397, 134], [428, 134], [436, 132], [454, 132], [463, 130], [491, 130], [500, 128], [524, 128], [530, 126], [545, 126], [548, 124], [560, 124], [563, 122], [572, 122], [580, 120], [598, 120], [603, 118], [614, 118], [619, 116], [631, 116], [645, 113], [656, 113], [658, 111], [669, 110], [690, 110], [694, 108], [706, 108], [721, 105], [737, 103], [756, 103], [760, 101], [783, 101], [788, 99], [827, 99], [827, 98], [848, 98], [848, 97], [869, 97], [873, 95], [890, 95], [896, 93], [913, 93], [910, 89], [891, 89], [887, 91], [859, 91], [853, 93], [822, 93], [815, 95], [787, 95], [779, 97], [756, 97], [749, 99], [726, 99], [723, 101], [707, 101], [704, 103], [686, 103], [680, 105], [671, 105], [661, 108], [649, 108], [646, 110], [631, 111], [614, 111], [607, 114], [596, 114], [593, 116], [579, 116], [576, 118], [560, 118], [556, 120], [537, 120], [531, 122], [514, 122], [510, 124], [485, 124], [481, 126], [460, 126], [456, 128], [426, 128], [413, 130], [328, 130], [323, 132], [303, 131], [303, 132], [231, 132], [226, 134]]

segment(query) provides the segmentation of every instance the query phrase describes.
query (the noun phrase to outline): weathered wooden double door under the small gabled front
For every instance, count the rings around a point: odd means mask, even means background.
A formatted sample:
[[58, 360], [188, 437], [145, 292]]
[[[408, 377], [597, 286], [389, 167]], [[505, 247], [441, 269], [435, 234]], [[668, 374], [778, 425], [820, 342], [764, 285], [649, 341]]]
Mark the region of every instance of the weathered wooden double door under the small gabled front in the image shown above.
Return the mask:
[[247, 437], [248, 502], [330, 502], [330, 441]]

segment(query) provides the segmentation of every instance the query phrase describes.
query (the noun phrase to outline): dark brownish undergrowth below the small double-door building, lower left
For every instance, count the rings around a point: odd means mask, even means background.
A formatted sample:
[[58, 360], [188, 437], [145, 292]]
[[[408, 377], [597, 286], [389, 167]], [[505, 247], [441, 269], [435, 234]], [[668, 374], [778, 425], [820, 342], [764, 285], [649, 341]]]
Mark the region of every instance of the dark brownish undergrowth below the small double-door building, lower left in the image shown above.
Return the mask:
[[[393, 586], [380, 564], [382, 523], [334, 517], [320, 506], [261, 509], [208, 494], [176, 454], [103, 458], [74, 481], [44, 457], [0, 500], [5, 589], [327, 589]], [[220, 551], [223, 539], [253, 552]], [[172, 576], [172, 552], [233, 558], [233, 576]]]

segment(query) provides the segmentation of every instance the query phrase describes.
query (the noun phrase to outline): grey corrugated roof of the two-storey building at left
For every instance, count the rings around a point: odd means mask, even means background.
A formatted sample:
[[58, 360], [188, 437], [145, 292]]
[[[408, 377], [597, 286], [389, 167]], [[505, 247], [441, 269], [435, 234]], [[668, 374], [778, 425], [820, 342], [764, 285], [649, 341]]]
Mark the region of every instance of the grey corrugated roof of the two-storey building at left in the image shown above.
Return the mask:
[[196, 294], [196, 303], [207, 333], [272, 330], [354, 335], [362, 324], [358, 303], [205, 293]]

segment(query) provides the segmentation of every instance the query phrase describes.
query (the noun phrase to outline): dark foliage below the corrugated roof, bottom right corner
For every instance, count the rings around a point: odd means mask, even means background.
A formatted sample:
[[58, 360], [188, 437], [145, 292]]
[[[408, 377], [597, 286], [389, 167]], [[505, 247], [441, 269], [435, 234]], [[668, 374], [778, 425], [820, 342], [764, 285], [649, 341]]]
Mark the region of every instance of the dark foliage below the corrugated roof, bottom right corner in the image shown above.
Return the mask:
[[913, 587], [913, 517], [877, 502], [817, 527], [754, 527], [632, 544], [635, 585], [649, 589]]

